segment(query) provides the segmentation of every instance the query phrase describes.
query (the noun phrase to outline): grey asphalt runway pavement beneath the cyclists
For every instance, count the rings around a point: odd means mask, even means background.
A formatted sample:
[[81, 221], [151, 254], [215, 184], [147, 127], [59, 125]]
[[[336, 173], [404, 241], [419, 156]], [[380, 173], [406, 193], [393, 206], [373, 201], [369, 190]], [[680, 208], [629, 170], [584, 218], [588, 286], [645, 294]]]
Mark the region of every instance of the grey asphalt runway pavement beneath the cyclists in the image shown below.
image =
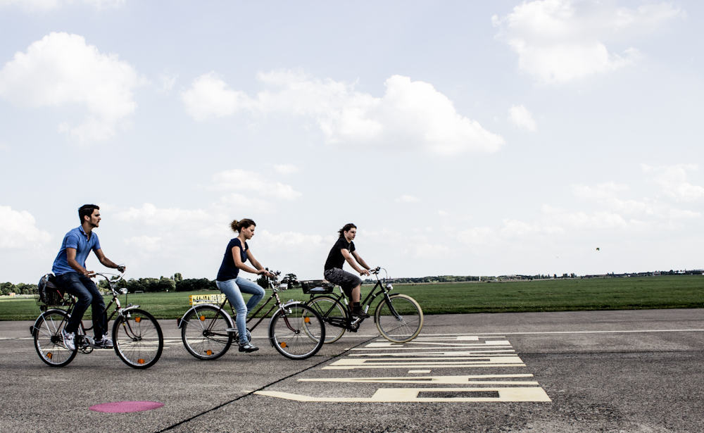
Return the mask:
[[[704, 310], [431, 315], [390, 344], [372, 319], [308, 360], [237, 346], [213, 361], [160, 320], [147, 370], [114, 351], [64, 368], [37, 356], [32, 322], [0, 322], [2, 432], [704, 431]], [[134, 413], [99, 403], [154, 401]]]

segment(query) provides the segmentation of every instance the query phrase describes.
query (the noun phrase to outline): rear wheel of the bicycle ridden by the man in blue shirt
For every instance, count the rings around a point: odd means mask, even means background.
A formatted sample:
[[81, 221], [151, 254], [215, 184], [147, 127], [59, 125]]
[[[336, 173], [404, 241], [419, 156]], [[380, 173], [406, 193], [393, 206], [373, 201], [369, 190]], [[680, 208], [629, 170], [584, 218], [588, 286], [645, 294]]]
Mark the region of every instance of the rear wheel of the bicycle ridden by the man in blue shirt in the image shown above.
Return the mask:
[[68, 324], [68, 313], [64, 310], [46, 310], [34, 322], [34, 349], [39, 359], [51, 367], [68, 365], [78, 353], [77, 349], [70, 351], [63, 345], [61, 331]]

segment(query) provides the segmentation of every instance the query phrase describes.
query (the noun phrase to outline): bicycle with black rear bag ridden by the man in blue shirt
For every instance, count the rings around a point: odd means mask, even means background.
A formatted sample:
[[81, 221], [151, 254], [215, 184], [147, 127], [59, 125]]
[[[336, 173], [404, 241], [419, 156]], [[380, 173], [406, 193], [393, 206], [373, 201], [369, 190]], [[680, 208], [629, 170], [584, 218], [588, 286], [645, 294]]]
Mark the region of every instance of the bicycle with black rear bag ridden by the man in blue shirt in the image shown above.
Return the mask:
[[[94, 275], [108, 282], [108, 289], [113, 295], [113, 299], [106, 306], [108, 311], [113, 303], [115, 304], [108, 322], [117, 315], [112, 330], [113, 349], [118, 358], [130, 367], [149, 368], [161, 357], [164, 337], [153, 315], [139, 309], [138, 305], [129, 304], [126, 307], [120, 305], [118, 297], [126, 295], [127, 289], [116, 289], [116, 285], [122, 280], [123, 275], [124, 273]], [[44, 281], [45, 278], [48, 281]], [[91, 353], [97, 347], [94, 339], [86, 334], [93, 329], [93, 325], [86, 327], [83, 322], [80, 322], [76, 332], [75, 349], [72, 351], [66, 348], [61, 331], [68, 324], [77, 298], [70, 294], [64, 295], [52, 281], [53, 275], [45, 275], [42, 280], [46, 282], [46, 286], [39, 284], [39, 303], [43, 312], [30, 327], [30, 333], [34, 337], [34, 349], [37, 350], [39, 358], [51, 367], [63, 367], [68, 365], [78, 352]], [[127, 302], [126, 297], [125, 302]], [[50, 308], [51, 306], [59, 308]]]

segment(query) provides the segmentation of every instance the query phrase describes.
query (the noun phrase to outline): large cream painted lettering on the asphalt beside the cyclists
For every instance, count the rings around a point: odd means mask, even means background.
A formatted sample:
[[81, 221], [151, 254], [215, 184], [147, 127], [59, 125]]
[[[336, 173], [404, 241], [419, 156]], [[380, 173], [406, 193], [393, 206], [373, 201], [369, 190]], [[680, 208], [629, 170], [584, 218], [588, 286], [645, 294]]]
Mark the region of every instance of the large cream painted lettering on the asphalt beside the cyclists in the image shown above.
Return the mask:
[[[467, 334], [423, 336], [406, 344], [377, 340], [364, 347], [353, 349], [345, 358], [324, 365], [319, 370], [321, 372], [337, 370], [343, 375], [344, 371], [356, 370], [354, 373], [343, 377], [298, 379], [301, 385], [335, 384], [334, 387], [328, 388], [332, 396], [326, 396], [325, 392], [320, 395], [320, 388], [315, 388], [315, 391], [311, 389], [308, 394], [313, 395], [275, 390], [257, 391], [255, 394], [295, 401], [346, 403], [551, 401], [540, 384], [533, 379], [532, 374], [505, 373], [505, 368], [511, 368], [510, 371], [513, 371], [514, 368], [525, 366], [510, 342], [504, 337]], [[383, 369], [391, 372], [394, 371], [392, 369], [401, 368], [406, 369], [406, 376], [363, 376], [364, 371]], [[496, 374], [482, 375], [429, 375], [433, 370], [448, 368], [454, 369], [450, 370], [451, 372], [468, 371], [468, 368], [501, 368], [501, 370]], [[358, 396], [360, 384], [378, 384], [386, 387], [378, 387], [372, 396]], [[388, 387], [390, 384], [400, 385], [400, 387]], [[408, 384], [415, 384], [416, 387], [404, 387]], [[419, 385], [421, 387], [418, 387]], [[445, 387], [438, 387], [438, 385], [445, 385]], [[451, 387], [447, 387], [448, 385]], [[339, 392], [354, 396], [334, 395]]]

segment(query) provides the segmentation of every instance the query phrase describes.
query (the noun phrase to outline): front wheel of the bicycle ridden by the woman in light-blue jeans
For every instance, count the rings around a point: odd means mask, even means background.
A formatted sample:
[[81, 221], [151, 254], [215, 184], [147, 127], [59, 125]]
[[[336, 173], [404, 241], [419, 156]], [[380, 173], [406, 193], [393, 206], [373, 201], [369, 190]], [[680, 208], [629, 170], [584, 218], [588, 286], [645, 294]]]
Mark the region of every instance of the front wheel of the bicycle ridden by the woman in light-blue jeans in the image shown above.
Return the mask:
[[269, 341], [286, 358], [310, 358], [325, 344], [325, 323], [305, 304], [289, 303], [272, 315]]

